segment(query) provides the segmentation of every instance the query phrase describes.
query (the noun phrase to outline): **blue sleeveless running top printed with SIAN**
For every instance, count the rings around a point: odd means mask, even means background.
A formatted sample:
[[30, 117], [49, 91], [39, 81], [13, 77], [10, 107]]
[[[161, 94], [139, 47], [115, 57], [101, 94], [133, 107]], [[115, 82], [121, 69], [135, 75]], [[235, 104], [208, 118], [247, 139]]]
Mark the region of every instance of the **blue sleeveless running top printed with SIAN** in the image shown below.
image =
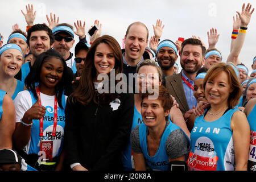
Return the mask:
[[191, 152], [188, 168], [195, 171], [233, 171], [235, 155], [233, 131], [230, 128], [232, 115], [238, 110], [229, 109], [215, 121], [196, 118], [191, 131]]

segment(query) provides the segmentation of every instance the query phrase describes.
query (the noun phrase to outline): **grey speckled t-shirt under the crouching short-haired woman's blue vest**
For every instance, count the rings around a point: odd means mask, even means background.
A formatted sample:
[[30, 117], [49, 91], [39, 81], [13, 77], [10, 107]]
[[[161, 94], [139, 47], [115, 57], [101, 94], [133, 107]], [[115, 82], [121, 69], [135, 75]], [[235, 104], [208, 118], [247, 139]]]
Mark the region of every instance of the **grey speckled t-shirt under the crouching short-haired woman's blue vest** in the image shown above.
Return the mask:
[[[168, 126], [170, 124], [167, 121]], [[148, 133], [148, 131], [147, 131]], [[141, 144], [139, 143], [139, 126], [131, 131], [131, 148], [137, 154], [142, 154]], [[176, 159], [188, 154], [189, 142], [181, 129], [174, 130], [166, 140], [166, 152], [169, 159]]]

